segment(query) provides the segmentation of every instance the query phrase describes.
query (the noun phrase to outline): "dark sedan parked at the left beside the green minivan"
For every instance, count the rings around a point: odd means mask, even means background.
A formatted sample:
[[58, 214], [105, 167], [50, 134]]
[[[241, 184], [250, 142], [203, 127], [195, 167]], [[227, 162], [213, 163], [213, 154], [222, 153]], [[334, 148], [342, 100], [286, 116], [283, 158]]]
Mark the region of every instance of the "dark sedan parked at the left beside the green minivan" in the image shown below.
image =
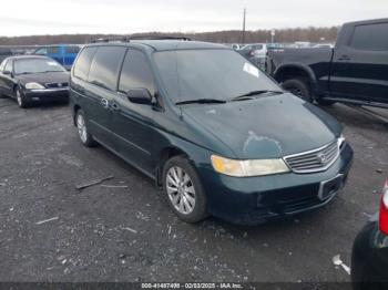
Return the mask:
[[0, 64], [0, 96], [20, 107], [38, 102], [68, 102], [69, 72], [47, 56], [11, 56]]

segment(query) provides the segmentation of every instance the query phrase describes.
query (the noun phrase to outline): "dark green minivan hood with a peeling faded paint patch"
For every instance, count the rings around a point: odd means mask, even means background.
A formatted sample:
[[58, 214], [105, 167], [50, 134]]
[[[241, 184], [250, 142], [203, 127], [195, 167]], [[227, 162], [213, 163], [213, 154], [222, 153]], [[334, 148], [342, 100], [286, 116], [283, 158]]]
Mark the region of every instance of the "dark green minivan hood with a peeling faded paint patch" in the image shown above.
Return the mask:
[[239, 159], [277, 158], [319, 148], [343, 131], [334, 117], [289, 93], [182, 110], [235, 154], [226, 157]]

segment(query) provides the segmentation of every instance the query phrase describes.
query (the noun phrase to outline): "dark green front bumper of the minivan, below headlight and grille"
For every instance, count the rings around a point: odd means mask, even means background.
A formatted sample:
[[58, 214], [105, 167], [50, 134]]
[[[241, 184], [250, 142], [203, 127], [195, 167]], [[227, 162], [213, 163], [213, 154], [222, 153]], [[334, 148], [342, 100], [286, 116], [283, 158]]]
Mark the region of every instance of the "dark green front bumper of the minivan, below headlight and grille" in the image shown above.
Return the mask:
[[[351, 162], [353, 149], [346, 144], [337, 160], [321, 173], [237, 178], [210, 167], [198, 172], [211, 214], [234, 224], [255, 225], [325, 206], [345, 185]], [[330, 180], [335, 180], [333, 190], [323, 195]]]

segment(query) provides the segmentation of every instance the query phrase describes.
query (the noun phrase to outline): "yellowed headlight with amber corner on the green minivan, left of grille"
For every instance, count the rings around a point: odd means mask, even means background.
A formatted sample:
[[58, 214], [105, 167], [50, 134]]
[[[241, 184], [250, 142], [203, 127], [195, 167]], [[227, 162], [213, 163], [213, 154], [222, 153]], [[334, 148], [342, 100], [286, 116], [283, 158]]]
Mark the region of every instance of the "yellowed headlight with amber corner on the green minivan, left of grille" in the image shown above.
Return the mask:
[[283, 159], [234, 160], [212, 155], [214, 170], [235, 177], [262, 176], [288, 173], [289, 168]]

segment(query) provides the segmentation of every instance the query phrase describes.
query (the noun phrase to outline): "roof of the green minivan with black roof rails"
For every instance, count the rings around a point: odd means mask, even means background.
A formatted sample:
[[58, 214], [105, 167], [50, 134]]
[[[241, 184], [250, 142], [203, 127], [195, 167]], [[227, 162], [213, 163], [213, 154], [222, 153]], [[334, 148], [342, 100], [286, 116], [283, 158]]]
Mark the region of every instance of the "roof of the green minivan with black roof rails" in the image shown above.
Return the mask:
[[202, 42], [202, 41], [182, 41], [182, 40], [131, 40], [130, 42], [98, 42], [98, 43], [86, 44], [85, 46], [108, 46], [108, 45], [132, 46], [133, 44], [149, 46], [155, 51], [197, 50], [197, 49], [231, 50], [229, 48], [223, 44]]

